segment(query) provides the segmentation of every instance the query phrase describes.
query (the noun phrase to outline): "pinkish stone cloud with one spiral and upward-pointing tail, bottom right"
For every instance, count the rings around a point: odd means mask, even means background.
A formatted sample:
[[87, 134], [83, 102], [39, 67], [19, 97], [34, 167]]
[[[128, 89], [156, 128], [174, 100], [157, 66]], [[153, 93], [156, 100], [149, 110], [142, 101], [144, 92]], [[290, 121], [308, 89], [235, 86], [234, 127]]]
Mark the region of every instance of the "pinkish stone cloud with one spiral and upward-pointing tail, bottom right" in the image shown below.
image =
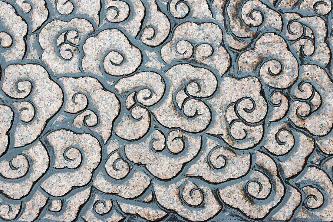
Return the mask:
[[255, 168], [231, 185], [221, 187], [219, 195], [224, 203], [252, 219], [260, 219], [280, 202], [285, 188], [272, 158], [258, 151], [252, 157]]

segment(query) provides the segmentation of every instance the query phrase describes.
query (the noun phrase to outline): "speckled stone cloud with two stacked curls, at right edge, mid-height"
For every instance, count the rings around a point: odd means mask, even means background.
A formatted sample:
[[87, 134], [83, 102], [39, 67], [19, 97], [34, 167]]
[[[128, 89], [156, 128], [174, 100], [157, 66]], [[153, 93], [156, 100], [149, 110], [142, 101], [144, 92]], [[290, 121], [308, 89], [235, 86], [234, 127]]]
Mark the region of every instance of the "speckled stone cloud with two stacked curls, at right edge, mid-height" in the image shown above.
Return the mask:
[[326, 135], [333, 124], [333, 96], [329, 93], [333, 89], [332, 81], [319, 66], [304, 65], [301, 68], [300, 78], [291, 89], [295, 100], [289, 118], [313, 135]]

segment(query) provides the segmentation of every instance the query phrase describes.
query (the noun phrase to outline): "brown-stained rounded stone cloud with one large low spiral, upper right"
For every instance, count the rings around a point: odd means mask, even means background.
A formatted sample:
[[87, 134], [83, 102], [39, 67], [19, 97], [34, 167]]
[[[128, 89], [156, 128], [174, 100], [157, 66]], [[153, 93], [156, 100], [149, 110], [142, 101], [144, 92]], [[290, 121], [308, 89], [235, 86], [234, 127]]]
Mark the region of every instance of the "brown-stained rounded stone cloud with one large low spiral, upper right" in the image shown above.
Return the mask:
[[284, 39], [275, 33], [261, 35], [253, 50], [239, 56], [238, 66], [241, 72], [258, 72], [265, 84], [279, 89], [291, 86], [299, 72], [296, 58], [288, 51]]

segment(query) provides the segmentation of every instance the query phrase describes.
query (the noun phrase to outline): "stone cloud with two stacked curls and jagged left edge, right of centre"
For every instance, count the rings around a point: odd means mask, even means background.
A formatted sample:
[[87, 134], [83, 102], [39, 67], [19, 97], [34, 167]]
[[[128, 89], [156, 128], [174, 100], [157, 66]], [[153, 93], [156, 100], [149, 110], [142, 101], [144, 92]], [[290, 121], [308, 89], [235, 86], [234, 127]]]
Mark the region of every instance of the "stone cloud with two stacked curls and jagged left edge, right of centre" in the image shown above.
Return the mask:
[[255, 77], [223, 78], [219, 91], [208, 101], [217, 115], [207, 133], [220, 135], [237, 149], [255, 146], [263, 135], [262, 120], [267, 113], [267, 103], [260, 91], [260, 82]]

